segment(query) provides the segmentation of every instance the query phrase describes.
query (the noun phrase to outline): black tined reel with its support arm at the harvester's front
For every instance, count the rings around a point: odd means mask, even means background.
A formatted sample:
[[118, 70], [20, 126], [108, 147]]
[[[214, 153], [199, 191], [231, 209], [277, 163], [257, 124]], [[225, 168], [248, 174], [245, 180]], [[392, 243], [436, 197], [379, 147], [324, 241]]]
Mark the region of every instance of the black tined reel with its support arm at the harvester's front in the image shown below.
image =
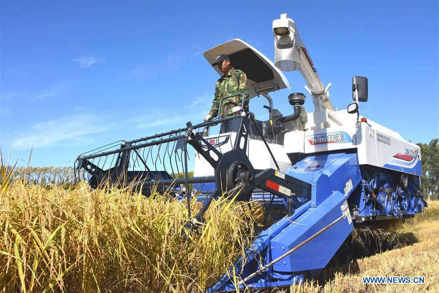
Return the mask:
[[[232, 149], [224, 153], [210, 145], [196, 131], [201, 127], [218, 125], [231, 120], [239, 120], [239, 129], [234, 134], [235, 141]], [[247, 155], [250, 121], [256, 126], [277, 170], [272, 168], [255, 170], [253, 168]], [[188, 145], [192, 146], [198, 155], [209, 163], [214, 170], [214, 176], [188, 177]], [[254, 188], [258, 187], [278, 197], [288, 197], [290, 202], [291, 197], [298, 195], [302, 198], [311, 198], [311, 184], [279, 171], [279, 166], [261, 130], [248, 113], [245, 116], [220, 118], [196, 126], [192, 126], [188, 122], [186, 128], [122, 142], [122, 144], [115, 142], [103, 146], [97, 151], [95, 149], [80, 155], [76, 162], [75, 170], [82, 169], [81, 173], [84, 179], [86, 176], [88, 177], [85, 173], [90, 174], [91, 180], [89, 182], [96, 186], [105, 183], [105, 181], [108, 181], [112, 186], [133, 184], [136, 191], [139, 190], [149, 196], [151, 194], [150, 188], [154, 188], [154, 186], [158, 188], [155, 190], [165, 193], [169, 190], [173, 192], [173, 186], [185, 185], [184, 192], [186, 192], [189, 218], [182, 229], [182, 235], [185, 239], [191, 238], [188, 233], [192, 231], [201, 232], [203, 224], [206, 223], [203, 217], [205, 212], [209, 209], [211, 202], [220, 196], [236, 201], [249, 201]], [[157, 167], [159, 164], [164, 170]], [[144, 169], [135, 169], [136, 166], [143, 166]], [[169, 168], [170, 173], [168, 172]], [[181, 171], [184, 172], [184, 178], [175, 178], [175, 175]], [[194, 216], [191, 215], [188, 185], [212, 182], [215, 183], [215, 188], [206, 195], [203, 206], [198, 213]]]

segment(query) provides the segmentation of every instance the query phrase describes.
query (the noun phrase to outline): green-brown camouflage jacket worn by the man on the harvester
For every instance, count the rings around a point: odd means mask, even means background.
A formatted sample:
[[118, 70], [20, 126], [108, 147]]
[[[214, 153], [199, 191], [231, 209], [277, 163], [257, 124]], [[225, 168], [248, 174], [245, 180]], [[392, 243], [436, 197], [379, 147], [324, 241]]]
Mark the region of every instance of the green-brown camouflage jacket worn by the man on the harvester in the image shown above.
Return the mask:
[[[223, 75], [215, 85], [215, 98], [210, 109], [209, 115], [216, 117], [218, 115], [219, 103], [223, 97], [233, 94], [243, 93], [245, 95], [245, 109], [249, 108], [249, 88], [247, 87], [246, 74], [238, 69], [231, 68], [229, 74]], [[232, 113], [234, 106], [241, 106], [241, 96], [235, 96], [223, 101], [221, 105], [220, 117]]]

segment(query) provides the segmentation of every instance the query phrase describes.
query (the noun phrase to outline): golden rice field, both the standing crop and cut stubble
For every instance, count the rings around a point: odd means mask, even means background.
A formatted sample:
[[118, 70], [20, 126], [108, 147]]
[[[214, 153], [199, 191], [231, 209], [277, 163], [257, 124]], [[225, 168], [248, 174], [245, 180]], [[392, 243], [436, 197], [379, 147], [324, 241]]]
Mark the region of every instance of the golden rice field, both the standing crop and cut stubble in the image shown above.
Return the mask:
[[[200, 208], [191, 204], [193, 212]], [[429, 206], [404, 225], [370, 230], [374, 237], [355, 230], [351, 239], [365, 245], [392, 238], [397, 241], [386, 243], [397, 248], [327, 268], [318, 282], [287, 291], [439, 292], [439, 205]], [[186, 203], [166, 195], [15, 181], [0, 194], [0, 290], [202, 292], [250, 245], [263, 212], [257, 204], [220, 198], [209, 208], [201, 234], [185, 241]], [[365, 285], [365, 275], [425, 276], [426, 283]]]

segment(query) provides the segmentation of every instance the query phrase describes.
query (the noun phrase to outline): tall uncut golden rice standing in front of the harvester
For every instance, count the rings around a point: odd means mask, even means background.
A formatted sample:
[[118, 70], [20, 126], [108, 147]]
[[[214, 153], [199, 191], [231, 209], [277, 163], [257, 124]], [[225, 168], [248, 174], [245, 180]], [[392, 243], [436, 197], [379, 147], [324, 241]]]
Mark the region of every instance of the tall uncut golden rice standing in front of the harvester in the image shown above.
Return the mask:
[[261, 215], [230, 204], [214, 201], [203, 234], [186, 242], [186, 203], [167, 196], [16, 182], [0, 194], [1, 291], [201, 291], [251, 243], [247, 218]]

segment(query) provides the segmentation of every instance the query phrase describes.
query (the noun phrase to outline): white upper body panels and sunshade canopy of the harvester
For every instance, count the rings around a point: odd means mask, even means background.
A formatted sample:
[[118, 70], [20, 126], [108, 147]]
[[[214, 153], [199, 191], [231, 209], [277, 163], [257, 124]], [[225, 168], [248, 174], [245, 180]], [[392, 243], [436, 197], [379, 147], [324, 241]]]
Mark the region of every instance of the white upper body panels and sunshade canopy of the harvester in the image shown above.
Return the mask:
[[[301, 40], [298, 47], [304, 48]], [[303, 51], [299, 50], [299, 52]], [[238, 66], [235, 68], [243, 70], [248, 76], [251, 98], [262, 95], [271, 101], [270, 92], [290, 88], [290, 83], [285, 75], [266, 56], [246, 42], [239, 39], [225, 42], [209, 49], [204, 53], [204, 56], [210, 64], [219, 54], [228, 54], [233, 66], [238, 61]], [[298, 55], [300, 59], [301, 55]], [[311, 60], [308, 53], [302, 56], [306, 56], [305, 61]], [[246, 61], [251, 63], [245, 63]], [[308, 67], [310, 67], [309, 64]], [[216, 66], [213, 68], [218, 74], [221, 74]], [[300, 68], [300, 64], [296, 63], [294, 68]], [[302, 74], [307, 72], [306, 70], [300, 71]], [[316, 72], [313, 71], [312, 75], [312, 78], [305, 80], [312, 80], [314, 84], [318, 84], [315, 82], [315, 76], [318, 78]], [[315, 85], [313, 87], [315, 88]], [[323, 88], [323, 84], [320, 88]], [[267, 138], [267, 143], [281, 171], [292, 167], [293, 156], [303, 158], [306, 154], [352, 151], [350, 149], [356, 148], [360, 165], [422, 175], [420, 149], [417, 145], [404, 140], [397, 132], [370, 119], [361, 122], [366, 118], [362, 116], [357, 118], [356, 115], [348, 113], [345, 109], [334, 111], [329, 101], [328, 88], [324, 90], [323, 96], [314, 96], [313, 94], [314, 104], [317, 104], [314, 112], [308, 113], [304, 107], [300, 106], [299, 118], [288, 124], [281, 140]], [[264, 128], [270, 124], [270, 120], [260, 123], [261, 128]], [[253, 129], [253, 131], [255, 130]], [[232, 149], [235, 137], [236, 133], [230, 132], [210, 135], [207, 140], [212, 146], [224, 153]], [[247, 154], [251, 164], [256, 169], [275, 167], [267, 147], [260, 139], [249, 138]], [[213, 175], [213, 168], [202, 156], [196, 155], [194, 176], [208, 175]]]

